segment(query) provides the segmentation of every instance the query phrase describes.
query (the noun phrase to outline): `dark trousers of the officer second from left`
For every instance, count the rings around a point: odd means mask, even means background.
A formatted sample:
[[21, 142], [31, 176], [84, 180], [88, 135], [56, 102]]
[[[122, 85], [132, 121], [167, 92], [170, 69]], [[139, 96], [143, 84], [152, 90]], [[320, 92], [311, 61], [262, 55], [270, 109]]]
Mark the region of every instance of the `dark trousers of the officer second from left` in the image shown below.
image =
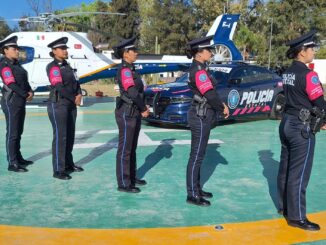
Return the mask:
[[74, 165], [72, 150], [75, 142], [77, 109], [75, 105], [48, 103], [48, 115], [53, 128], [53, 172], [64, 172]]

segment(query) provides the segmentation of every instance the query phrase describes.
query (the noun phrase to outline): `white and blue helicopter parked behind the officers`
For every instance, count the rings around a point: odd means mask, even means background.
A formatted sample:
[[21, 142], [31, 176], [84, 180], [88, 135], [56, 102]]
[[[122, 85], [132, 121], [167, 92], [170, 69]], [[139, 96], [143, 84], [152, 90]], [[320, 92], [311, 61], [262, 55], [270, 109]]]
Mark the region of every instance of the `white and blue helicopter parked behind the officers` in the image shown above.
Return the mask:
[[[102, 12], [82, 12], [86, 14]], [[44, 13], [37, 18], [23, 19], [25, 21], [46, 23], [50, 30], [53, 23], [63, 23], [62, 17], [75, 16], [81, 13], [66, 13], [54, 15]], [[119, 13], [115, 13], [119, 14]], [[215, 45], [215, 61], [242, 60], [242, 55], [234, 45], [232, 38], [239, 20], [239, 14], [223, 14], [216, 18], [208, 35], [213, 35], [212, 44]], [[22, 19], [19, 19], [22, 20]], [[66, 23], [66, 22], [65, 22]], [[68, 62], [76, 69], [79, 83], [87, 83], [93, 80], [115, 77], [121, 60], [112, 56], [112, 52], [102, 52], [96, 49], [84, 32], [15, 32], [7, 36], [18, 37], [18, 45], [21, 47], [20, 61], [28, 71], [29, 83], [34, 91], [48, 91], [49, 81], [46, 74], [46, 66], [52, 61], [47, 45], [60, 38], [68, 37], [69, 47]], [[186, 56], [177, 55], [138, 55], [134, 63], [139, 74], [152, 74], [186, 70], [191, 60]], [[0, 87], [2, 81], [0, 79]]]

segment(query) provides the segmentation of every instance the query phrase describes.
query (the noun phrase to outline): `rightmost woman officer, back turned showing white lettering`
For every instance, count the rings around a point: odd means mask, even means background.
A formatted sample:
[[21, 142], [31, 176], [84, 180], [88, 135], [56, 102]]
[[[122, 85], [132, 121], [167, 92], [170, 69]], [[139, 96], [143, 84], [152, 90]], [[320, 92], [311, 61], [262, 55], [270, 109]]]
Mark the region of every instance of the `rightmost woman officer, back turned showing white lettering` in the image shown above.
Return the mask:
[[316, 72], [307, 64], [314, 59], [316, 32], [311, 31], [287, 43], [292, 65], [283, 73], [284, 115], [279, 133], [282, 143], [277, 178], [279, 213], [290, 226], [319, 230], [306, 216], [306, 189], [312, 169], [315, 134], [325, 129], [323, 88]]

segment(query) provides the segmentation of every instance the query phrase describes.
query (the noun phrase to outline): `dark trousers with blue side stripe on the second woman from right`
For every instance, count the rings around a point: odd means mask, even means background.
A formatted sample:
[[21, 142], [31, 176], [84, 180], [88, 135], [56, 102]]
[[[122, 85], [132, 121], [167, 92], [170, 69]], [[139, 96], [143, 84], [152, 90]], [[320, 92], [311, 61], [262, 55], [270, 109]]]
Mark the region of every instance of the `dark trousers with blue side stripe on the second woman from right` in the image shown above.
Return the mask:
[[203, 162], [215, 112], [207, 110], [205, 118], [197, 116], [195, 106], [188, 111], [188, 124], [191, 130], [191, 151], [187, 166], [187, 194], [198, 196], [200, 186], [200, 167]]

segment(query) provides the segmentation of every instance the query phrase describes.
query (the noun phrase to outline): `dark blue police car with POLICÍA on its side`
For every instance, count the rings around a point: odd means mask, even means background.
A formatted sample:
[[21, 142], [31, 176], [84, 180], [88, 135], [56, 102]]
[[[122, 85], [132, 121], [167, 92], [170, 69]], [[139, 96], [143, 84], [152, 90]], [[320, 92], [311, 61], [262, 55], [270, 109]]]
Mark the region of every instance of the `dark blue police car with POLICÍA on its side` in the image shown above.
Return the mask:
[[[264, 67], [243, 63], [213, 64], [209, 69], [218, 82], [218, 94], [229, 107], [229, 119], [263, 114], [272, 119], [281, 117], [285, 99], [280, 76]], [[150, 106], [150, 116], [144, 120], [187, 125], [193, 97], [188, 79], [185, 73], [173, 83], [148, 86], [145, 102]]]

